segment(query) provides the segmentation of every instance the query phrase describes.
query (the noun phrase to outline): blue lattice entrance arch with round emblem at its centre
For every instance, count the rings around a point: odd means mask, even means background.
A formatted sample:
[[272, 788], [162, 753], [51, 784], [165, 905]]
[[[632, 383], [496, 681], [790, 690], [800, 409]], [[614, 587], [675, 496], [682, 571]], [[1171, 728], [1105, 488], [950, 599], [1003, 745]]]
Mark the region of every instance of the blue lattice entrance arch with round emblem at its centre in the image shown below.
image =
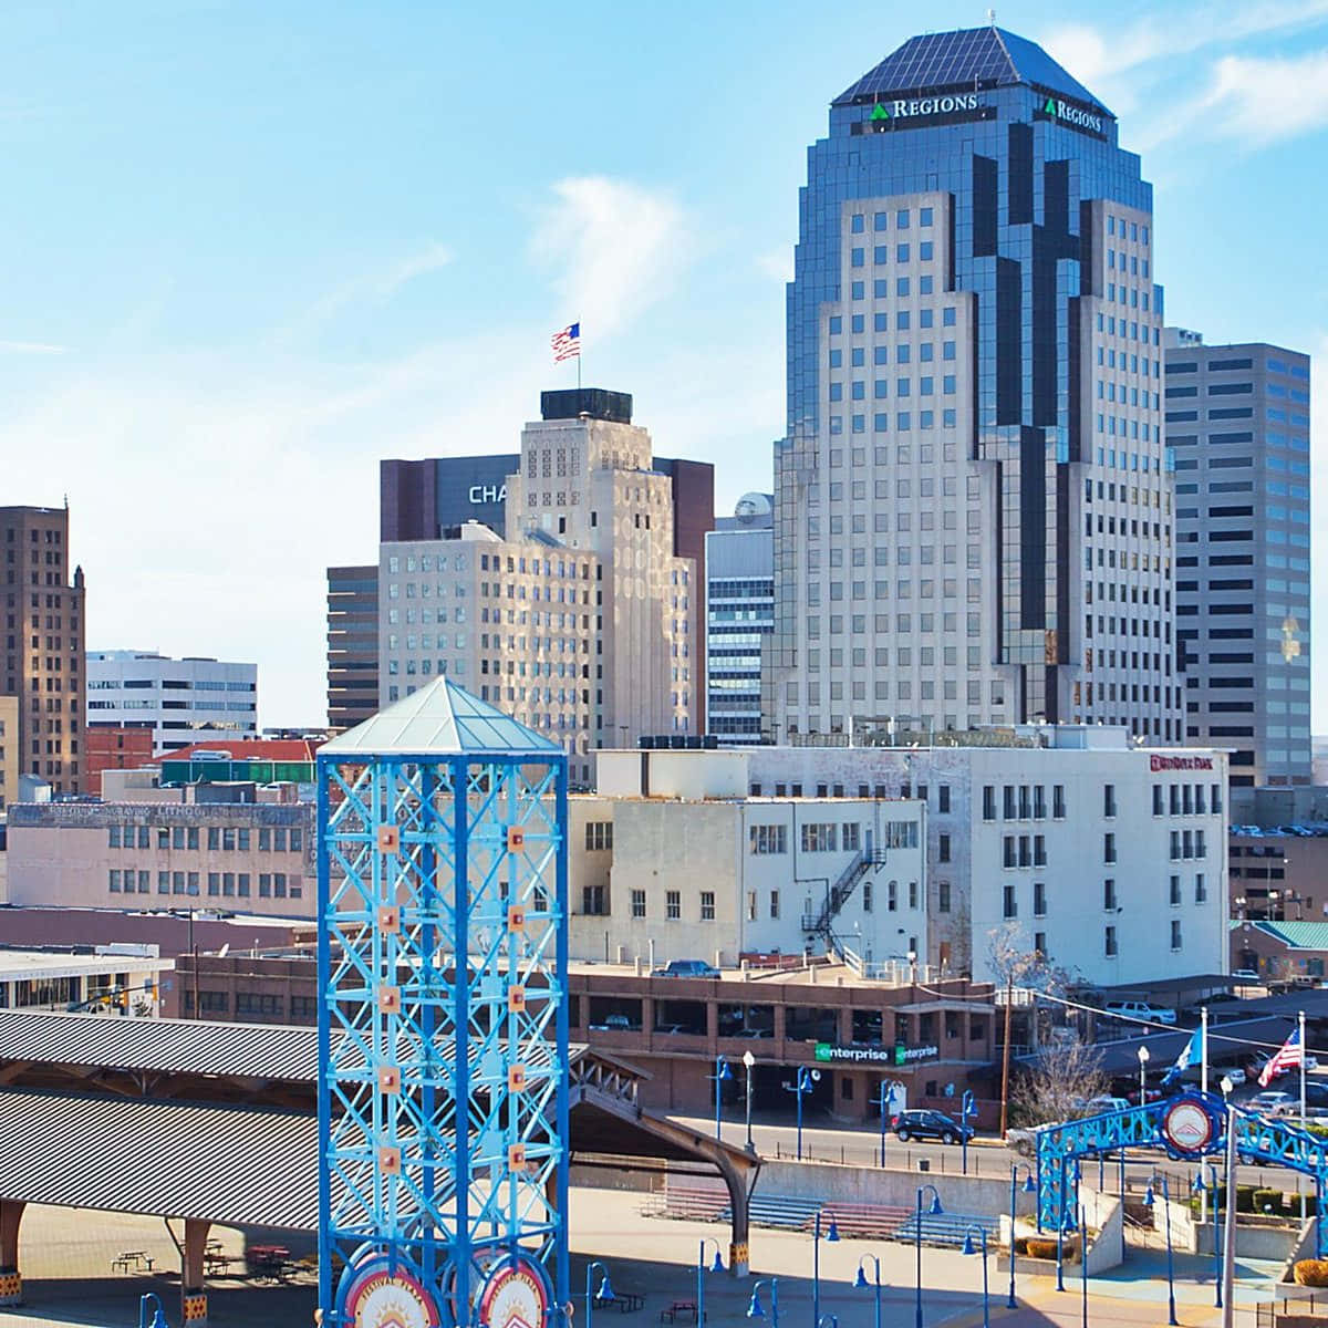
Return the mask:
[[[1208, 1114], [1212, 1133], [1198, 1150], [1175, 1147], [1162, 1130], [1162, 1122], [1179, 1102], [1194, 1102]], [[1236, 1157], [1244, 1162], [1266, 1162], [1313, 1178], [1316, 1204], [1323, 1204], [1328, 1183], [1328, 1139], [1321, 1139], [1288, 1121], [1268, 1120], [1252, 1112], [1230, 1106], [1215, 1093], [1189, 1092], [1175, 1097], [1131, 1106], [1123, 1112], [1104, 1112], [1082, 1121], [1044, 1125], [1037, 1138], [1037, 1222], [1054, 1231], [1078, 1204], [1078, 1181], [1074, 1163], [1118, 1149], [1162, 1147], [1173, 1161], [1194, 1162], [1227, 1146], [1227, 1130], [1235, 1131]], [[1319, 1258], [1328, 1258], [1328, 1227], [1316, 1218], [1315, 1236]]]

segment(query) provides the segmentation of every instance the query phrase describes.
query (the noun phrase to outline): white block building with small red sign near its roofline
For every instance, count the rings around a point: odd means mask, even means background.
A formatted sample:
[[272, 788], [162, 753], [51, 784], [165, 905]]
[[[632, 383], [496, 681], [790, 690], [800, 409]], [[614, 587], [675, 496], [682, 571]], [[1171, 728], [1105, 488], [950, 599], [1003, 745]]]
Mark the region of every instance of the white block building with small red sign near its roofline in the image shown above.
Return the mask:
[[1076, 725], [948, 737], [964, 745], [606, 752], [599, 791], [718, 756], [746, 762], [752, 798], [918, 798], [928, 963], [989, 977], [989, 934], [1012, 923], [1093, 983], [1226, 971], [1224, 752]]

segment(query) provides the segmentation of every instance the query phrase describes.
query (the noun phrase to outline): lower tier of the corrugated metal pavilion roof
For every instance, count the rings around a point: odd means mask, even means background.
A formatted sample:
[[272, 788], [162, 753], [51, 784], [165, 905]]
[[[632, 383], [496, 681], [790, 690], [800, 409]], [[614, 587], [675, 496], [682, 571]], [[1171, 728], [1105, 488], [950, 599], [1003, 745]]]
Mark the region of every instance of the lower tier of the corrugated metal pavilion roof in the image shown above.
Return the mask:
[[0, 1195], [29, 1203], [315, 1231], [317, 1175], [313, 1116], [0, 1092]]

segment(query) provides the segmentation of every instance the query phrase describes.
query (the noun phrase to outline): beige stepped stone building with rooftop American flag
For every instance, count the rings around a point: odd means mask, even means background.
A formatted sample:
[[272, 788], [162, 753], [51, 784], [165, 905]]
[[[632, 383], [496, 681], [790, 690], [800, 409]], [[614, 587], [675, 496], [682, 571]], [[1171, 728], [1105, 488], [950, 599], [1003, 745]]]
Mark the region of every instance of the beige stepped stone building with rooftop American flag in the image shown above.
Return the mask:
[[540, 404], [506, 481], [506, 535], [466, 522], [452, 538], [381, 546], [378, 695], [389, 705], [449, 673], [560, 741], [584, 785], [598, 746], [699, 732], [712, 509], [689, 515], [700, 558], [676, 552], [675, 521], [695, 506], [679, 494], [712, 477], [693, 462], [675, 462], [681, 482], [659, 470], [625, 393]]

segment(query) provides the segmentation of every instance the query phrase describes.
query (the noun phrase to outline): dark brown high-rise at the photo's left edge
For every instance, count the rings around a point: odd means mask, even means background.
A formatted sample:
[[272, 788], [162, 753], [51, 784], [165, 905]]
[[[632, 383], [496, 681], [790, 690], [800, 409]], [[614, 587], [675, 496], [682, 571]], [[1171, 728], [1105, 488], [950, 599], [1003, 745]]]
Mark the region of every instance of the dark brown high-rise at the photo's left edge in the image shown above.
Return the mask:
[[[68, 507], [0, 507], [5, 550], [4, 691], [19, 699], [19, 769], [82, 789], [84, 574], [69, 575]], [[7, 737], [7, 741], [13, 741]], [[16, 801], [9, 789], [8, 801]]]

